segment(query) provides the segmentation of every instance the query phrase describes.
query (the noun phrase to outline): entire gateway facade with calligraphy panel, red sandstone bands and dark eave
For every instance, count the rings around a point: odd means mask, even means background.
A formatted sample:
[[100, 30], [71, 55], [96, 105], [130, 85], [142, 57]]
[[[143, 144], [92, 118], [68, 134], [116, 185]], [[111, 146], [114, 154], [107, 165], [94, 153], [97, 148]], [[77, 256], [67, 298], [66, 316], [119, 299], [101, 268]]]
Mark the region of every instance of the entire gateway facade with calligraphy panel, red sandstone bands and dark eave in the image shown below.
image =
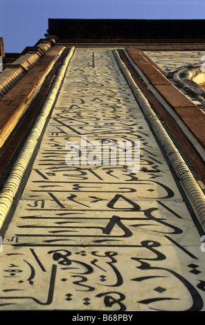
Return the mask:
[[[1, 46], [1, 310], [205, 310], [197, 26], [49, 19], [21, 54]], [[136, 142], [129, 172], [116, 147]]]

